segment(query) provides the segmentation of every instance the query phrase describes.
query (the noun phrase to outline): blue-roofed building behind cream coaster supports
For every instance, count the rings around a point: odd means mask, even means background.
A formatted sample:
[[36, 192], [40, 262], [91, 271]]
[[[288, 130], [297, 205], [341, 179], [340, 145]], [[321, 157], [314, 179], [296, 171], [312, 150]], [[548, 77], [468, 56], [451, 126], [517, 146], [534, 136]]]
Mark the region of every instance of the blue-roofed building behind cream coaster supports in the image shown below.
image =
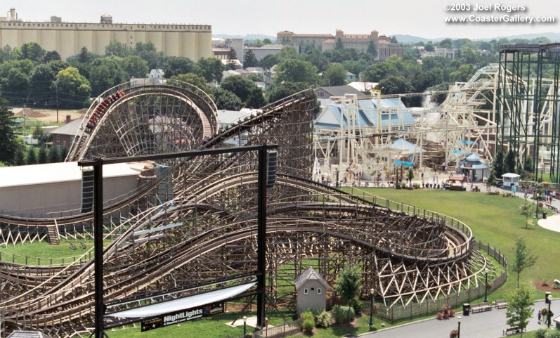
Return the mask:
[[346, 93], [328, 101], [315, 119], [315, 150], [325, 159], [323, 166], [353, 168], [367, 178], [392, 167], [392, 157], [400, 152], [391, 151], [391, 138], [409, 134], [415, 125], [400, 98], [360, 98]]

